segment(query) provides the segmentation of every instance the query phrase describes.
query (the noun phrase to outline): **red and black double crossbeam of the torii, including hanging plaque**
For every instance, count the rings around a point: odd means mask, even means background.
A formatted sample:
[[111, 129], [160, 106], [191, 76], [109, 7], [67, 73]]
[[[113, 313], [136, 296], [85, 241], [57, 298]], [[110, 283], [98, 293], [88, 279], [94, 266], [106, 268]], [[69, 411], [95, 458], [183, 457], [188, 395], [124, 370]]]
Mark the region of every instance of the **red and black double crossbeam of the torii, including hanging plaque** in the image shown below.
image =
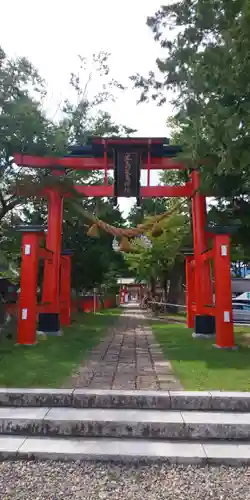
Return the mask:
[[[184, 197], [191, 196], [192, 181], [183, 186], [150, 186], [151, 170], [184, 170], [176, 159], [180, 146], [169, 145], [165, 138], [102, 138], [93, 137], [85, 146], [71, 146], [68, 154], [57, 156], [30, 156], [17, 153], [16, 164], [27, 168], [46, 168], [53, 172], [67, 170], [103, 170], [104, 184], [76, 185], [75, 189], [90, 197]], [[140, 170], [147, 170], [147, 185], [140, 187]], [[115, 170], [114, 185], [108, 183], [108, 170]], [[130, 176], [130, 188], [126, 188]], [[119, 184], [120, 182], [120, 184]], [[123, 186], [124, 184], [124, 186]], [[128, 182], [127, 182], [128, 186]]]

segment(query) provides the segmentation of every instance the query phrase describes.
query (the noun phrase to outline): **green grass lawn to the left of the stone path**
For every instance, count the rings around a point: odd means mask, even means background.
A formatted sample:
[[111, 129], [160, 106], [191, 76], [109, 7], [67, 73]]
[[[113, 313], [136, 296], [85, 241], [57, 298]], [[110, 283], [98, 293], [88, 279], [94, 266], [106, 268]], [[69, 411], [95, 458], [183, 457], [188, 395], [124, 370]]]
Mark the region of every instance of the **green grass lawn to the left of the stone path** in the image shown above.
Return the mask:
[[61, 387], [119, 313], [119, 309], [108, 309], [95, 315], [78, 314], [61, 337], [40, 337], [35, 346], [2, 341], [0, 387]]

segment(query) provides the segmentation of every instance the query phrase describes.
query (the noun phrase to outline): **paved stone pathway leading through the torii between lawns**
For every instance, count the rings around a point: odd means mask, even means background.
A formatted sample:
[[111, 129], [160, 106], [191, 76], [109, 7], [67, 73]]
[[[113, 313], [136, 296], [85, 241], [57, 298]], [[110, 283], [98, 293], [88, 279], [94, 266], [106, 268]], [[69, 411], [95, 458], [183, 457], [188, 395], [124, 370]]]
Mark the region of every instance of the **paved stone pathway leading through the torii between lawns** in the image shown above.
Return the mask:
[[123, 313], [65, 387], [181, 390], [169, 361], [136, 305]]

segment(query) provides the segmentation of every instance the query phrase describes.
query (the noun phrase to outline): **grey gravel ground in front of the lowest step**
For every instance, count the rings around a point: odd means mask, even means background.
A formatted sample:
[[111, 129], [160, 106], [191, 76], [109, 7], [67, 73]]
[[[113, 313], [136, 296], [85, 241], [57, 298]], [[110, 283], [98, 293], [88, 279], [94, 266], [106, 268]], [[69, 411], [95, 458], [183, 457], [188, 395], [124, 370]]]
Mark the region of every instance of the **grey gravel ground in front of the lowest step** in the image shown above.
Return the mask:
[[0, 463], [1, 500], [250, 499], [250, 468]]

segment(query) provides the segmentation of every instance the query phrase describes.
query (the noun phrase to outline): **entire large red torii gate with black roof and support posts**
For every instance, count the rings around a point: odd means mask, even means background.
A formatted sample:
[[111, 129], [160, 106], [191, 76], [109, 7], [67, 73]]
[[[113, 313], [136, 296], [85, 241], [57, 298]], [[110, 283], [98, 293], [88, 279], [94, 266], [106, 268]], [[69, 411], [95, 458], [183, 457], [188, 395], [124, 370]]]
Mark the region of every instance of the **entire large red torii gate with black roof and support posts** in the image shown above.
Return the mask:
[[[180, 147], [166, 139], [92, 138], [86, 146], [73, 146], [63, 157], [14, 156], [16, 164], [27, 168], [50, 169], [53, 175], [66, 176], [69, 170], [102, 170], [102, 185], [75, 185], [85, 197], [190, 197], [193, 219], [193, 255], [186, 257], [187, 326], [196, 335], [216, 331], [218, 348], [234, 348], [232, 293], [230, 276], [230, 239], [228, 234], [212, 233], [206, 228], [206, 198], [199, 192], [199, 169], [193, 169], [182, 186], [151, 186], [152, 170], [184, 170], [175, 158]], [[140, 171], [147, 171], [147, 185], [140, 186]], [[108, 171], [114, 170], [114, 184], [108, 183]], [[61, 253], [63, 196], [57, 188], [41, 190], [48, 200], [46, 249], [39, 247], [44, 236], [41, 228], [22, 227], [21, 292], [18, 318], [18, 343], [36, 342], [38, 259], [45, 259], [42, 304], [38, 330], [57, 334], [60, 326], [70, 323], [71, 255]], [[212, 247], [212, 248], [211, 248]], [[215, 303], [211, 277], [214, 269]]]

